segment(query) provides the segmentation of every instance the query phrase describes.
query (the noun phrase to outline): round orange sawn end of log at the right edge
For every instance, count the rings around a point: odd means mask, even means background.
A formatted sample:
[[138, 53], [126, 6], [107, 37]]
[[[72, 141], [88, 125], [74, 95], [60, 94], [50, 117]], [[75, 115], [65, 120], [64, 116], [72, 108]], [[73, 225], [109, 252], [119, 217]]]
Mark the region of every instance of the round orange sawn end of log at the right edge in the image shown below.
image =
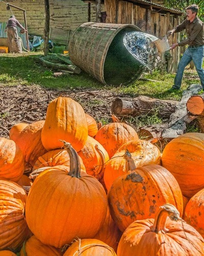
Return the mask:
[[186, 103], [187, 110], [193, 115], [204, 114], [204, 96], [194, 95]]

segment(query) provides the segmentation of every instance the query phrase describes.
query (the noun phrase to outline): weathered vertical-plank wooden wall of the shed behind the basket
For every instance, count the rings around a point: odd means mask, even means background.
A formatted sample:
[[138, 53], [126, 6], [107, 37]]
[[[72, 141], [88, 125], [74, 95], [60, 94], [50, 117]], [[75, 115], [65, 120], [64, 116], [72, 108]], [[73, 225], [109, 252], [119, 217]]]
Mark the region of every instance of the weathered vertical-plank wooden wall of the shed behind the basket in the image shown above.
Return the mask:
[[[157, 36], [158, 38], [167, 34], [178, 24], [180, 24], [180, 16], [161, 14], [141, 8], [134, 3], [117, 0], [105, 0], [105, 10], [107, 12], [107, 23], [133, 24], [138, 26], [143, 32]], [[169, 45], [177, 42], [179, 33], [169, 36]], [[170, 50], [171, 60], [169, 61], [168, 71], [176, 72], [177, 64], [180, 59], [180, 47]], [[159, 55], [162, 59], [162, 65], [166, 64], [165, 53]]]

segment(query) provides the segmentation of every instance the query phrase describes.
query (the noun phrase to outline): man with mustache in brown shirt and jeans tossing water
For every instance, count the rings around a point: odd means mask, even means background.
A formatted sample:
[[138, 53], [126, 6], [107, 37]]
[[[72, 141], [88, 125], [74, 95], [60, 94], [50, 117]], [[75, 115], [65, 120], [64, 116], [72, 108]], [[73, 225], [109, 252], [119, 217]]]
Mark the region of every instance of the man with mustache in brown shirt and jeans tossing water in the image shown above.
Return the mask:
[[200, 78], [202, 90], [204, 91], [204, 70], [202, 69], [202, 61], [204, 57], [204, 25], [197, 17], [198, 9], [199, 8], [197, 5], [188, 6], [186, 8], [186, 19], [184, 22], [167, 33], [170, 35], [186, 29], [187, 38], [181, 42], [176, 42], [173, 44], [171, 49], [174, 49], [177, 46], [189, 45], [179, 62], [177, 73], [174, 78], [174, 85], [168, 90], [168, 92], [180, 90], [184, 69], [191, 60], [193, 60], [196, 71]]

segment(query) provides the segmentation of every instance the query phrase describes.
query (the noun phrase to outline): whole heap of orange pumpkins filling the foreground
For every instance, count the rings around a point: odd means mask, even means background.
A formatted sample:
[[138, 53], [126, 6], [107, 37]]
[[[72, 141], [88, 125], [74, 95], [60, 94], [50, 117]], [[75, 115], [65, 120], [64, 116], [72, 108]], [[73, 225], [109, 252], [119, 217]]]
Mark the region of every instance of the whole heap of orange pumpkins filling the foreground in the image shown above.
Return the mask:
[[164, 148], [69, 97], [0, 138], [0, 255], [204, 255], [204, 134]]

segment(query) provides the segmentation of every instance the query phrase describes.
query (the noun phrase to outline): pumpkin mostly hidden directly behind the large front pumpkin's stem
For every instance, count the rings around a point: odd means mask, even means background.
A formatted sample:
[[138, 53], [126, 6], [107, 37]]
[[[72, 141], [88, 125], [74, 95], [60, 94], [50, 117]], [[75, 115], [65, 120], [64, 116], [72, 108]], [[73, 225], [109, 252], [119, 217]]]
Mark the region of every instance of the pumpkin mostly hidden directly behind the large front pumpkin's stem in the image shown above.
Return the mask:
[[[84, 163], [80, 159], [81, 168], [86, 171], [86, 168], [84, 166]], [[64, 165], [67, 166], [69, 169], [70, 166], [70, 160], [69, 160], [69, 154], [66, 150], [51, 150], [46, 152], [44, 155], [38, 157], [38, 160], [35, 162], [33, 166], [33, 170], [42, 168], [42, 167], [53, 167], [57, 165]]]

